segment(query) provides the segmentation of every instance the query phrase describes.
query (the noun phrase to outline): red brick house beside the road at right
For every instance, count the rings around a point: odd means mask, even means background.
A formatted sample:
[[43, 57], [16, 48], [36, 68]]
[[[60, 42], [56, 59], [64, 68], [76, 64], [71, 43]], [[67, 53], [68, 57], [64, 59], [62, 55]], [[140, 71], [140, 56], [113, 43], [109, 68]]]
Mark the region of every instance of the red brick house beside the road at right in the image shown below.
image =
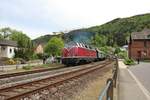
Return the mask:
[[128, 55], [135, 60], [150, 59], [150, 29], [131, 33]]

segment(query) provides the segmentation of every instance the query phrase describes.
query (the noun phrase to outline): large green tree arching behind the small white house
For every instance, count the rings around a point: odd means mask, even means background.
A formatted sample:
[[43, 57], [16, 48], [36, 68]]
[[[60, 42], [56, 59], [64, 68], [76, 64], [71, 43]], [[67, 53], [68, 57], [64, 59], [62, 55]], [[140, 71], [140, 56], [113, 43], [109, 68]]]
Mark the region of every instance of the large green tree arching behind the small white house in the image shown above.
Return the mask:
[[0, 29], [1, 38], [9, 37], [10, 40], [17, 41], [18, 49], [15, 50], [15, 57], [29, 60], [33, 54], [33, 45], [31, 39], [21, 31], [9, 27]]

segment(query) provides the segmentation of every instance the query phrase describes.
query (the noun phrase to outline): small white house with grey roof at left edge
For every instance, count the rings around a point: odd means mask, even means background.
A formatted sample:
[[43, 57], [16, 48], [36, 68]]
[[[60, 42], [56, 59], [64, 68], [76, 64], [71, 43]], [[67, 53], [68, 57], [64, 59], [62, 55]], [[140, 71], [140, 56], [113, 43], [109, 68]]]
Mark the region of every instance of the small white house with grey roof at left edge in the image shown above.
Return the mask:
[[13, 58], [17, 49], [17, 42], [11, 40], [0, 40], [0, 58]]

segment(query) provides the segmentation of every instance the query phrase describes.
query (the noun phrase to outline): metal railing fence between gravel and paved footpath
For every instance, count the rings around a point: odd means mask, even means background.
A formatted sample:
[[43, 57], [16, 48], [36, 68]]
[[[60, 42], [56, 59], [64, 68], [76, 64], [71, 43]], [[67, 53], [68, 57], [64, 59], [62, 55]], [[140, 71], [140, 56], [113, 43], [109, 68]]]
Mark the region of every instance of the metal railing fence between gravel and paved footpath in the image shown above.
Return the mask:
[[112, 78], [107, 79], [106, 86], [99, 96], [99, 100], [113, 100], [113, 89], [116, 88], [118, 75], [118, 59], [116, 58], [115, 66], [113, 67]]

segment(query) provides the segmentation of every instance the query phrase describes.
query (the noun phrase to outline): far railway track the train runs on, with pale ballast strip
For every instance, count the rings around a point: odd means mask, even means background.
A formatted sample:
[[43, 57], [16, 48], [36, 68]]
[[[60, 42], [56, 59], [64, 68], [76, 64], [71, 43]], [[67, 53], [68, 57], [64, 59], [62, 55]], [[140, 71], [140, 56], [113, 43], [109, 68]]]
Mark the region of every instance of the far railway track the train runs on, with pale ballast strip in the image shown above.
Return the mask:
[[[103, 63], [104, 61], [101, 61], [100, 63]], [[95, 64], [95, 63], [94, 63]], [[88, 64], [89, 65], [89, 64]], [[20, 84], [20, 83], [26, 83], [29, 81], [33, 81], [33, 80], [39, 80], [41, 78], [46, 78], [50, 75], [54, 75], [56, 73], [61, 73], [61, 72], [65, 72], [68, 70], [73, 70], [73, 69], [77, 69], [82, 67], [86, 67], [88, 66], [87, 64], [85, 65], [80, 65], [80, 66], [76, 66], [76, 67], [64, 67], [61, 66], [61, 68], [55, 68], [54, 69], [41, 69], [41, 70], [34, 70], [34, 71], [29, 71], [29, 72], [19, 72], [19, 73], [11, 73], [11, 74], [3, 74], [1, 75], [0, 78], [0, 89], [3, 87], [10, 87], [16, 84]]]

